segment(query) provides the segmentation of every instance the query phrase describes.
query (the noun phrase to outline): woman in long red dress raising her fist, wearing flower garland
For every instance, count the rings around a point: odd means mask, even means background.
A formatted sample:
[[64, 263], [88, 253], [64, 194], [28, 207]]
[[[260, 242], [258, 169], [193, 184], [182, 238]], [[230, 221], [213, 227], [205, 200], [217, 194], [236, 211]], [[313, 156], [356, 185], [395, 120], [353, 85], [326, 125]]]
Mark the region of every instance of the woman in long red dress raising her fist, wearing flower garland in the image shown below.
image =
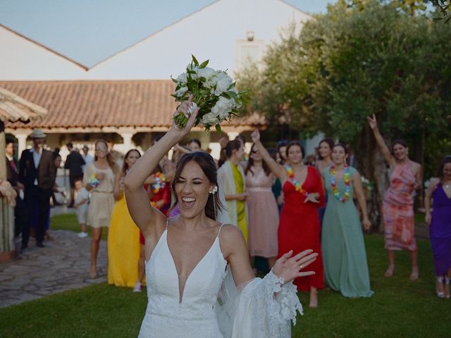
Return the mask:
[[258, 130], [254, 130], [251, 137], [263, 160], [279, 178], [285, 196], [278, 229], [278, 257], [290, 250], [294, 254], [305, 249], [313, 249], [318, 253], [311, 265], [315, 274], [293, 281], [298, 290], [310, 292], [309, 307], [316, 308], [317, 290], [324, 285], [318, 215], [318, 208], [324, 204], [321, 177], [314, 167], [302, 163], [304, 149], [299, 142], [292, 141], [287, 145], [288, 165], [280, 165], [261, 144]]

